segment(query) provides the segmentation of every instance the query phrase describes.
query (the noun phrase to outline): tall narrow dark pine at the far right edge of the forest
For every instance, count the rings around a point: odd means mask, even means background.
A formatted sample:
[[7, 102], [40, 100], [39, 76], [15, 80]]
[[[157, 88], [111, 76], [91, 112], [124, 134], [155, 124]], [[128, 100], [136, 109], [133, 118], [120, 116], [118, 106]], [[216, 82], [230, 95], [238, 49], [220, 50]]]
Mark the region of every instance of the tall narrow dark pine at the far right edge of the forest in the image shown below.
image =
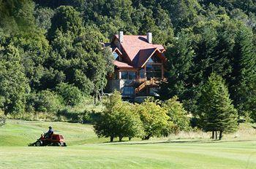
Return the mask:
[[253, 83], [256, 78], [256, 50], [253, 34], [249, 28], [241, 26], [236, 34], [236, 43], [233, 49], [231, 96], [238, 109], [238, 114], [244, 115], [245, 111], [251, 109], [248, 104], [255, 94], [253, 93]]

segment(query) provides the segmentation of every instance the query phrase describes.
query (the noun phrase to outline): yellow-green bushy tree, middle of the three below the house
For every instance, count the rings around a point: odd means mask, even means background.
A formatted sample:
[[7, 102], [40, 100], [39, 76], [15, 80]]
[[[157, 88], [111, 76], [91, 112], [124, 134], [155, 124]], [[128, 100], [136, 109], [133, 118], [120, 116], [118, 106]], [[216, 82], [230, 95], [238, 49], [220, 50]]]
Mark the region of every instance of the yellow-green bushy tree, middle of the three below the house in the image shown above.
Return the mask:
[[155, 101], [147, 99], [142, 104], [136, 105], [136, 110], [140, 114], [140, 119], [143, 122], [144, 135], [143, 139], [148, 140], [154, 136], [160, 136], [165, 133], [170, 127], [170, 122], [167, 116], [167, 110], [159, 106]]

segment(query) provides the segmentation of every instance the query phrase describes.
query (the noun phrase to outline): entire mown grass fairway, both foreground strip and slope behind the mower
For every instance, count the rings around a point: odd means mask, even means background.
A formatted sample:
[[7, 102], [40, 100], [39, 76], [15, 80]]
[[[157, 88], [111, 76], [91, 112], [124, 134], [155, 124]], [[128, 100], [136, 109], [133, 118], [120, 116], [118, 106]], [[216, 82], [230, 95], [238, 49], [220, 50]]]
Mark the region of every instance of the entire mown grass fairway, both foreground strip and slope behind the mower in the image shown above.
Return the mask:
[[[91, 126], [79, 124], [53, 123], [72, 146], [26, 146], [48, 125], [9, 121], [0, 127], [0, 168], [256, 168], [256, 141], [108, 144], [104, 138], [97, 139]], [[24, 130], [31, 131], [31, 136]], [[18, 138], [24, 140], [14, 144]]]

